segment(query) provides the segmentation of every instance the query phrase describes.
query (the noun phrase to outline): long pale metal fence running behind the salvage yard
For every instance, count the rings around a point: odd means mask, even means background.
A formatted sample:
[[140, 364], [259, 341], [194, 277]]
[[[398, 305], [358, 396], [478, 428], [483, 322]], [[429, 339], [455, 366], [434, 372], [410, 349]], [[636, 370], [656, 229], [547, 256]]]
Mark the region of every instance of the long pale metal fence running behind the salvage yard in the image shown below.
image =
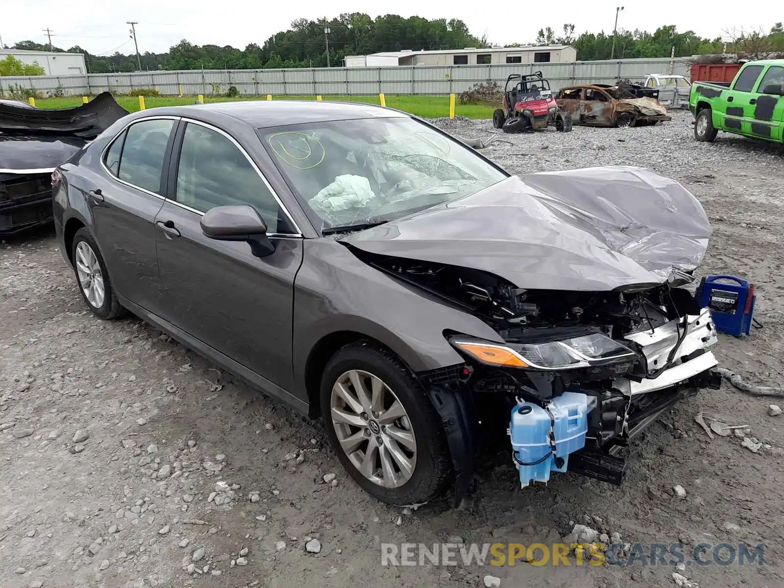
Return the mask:
[[177, 95], [182, 86], [188, 95], [227, 93], [230, 86], [244, 95], [357, 95], [459, 93], [480, 82], [506, 82], [510, 74], [542, 71], [550, 88], [590, 82], [612, 84], [619, 78], [641, 81], [646, 74], [670, 73], [688, 77], [691, 60], [677, 58], [576, 61], [564, 64], [492, 64], [401, 67], [320, 67], [274, 70], [143, 71], [133, 73], [36, 76], [0, 79], [0, 94], [11, 86], [34, 89], [43, 96], [129, 93], [132, 89], [157, 88]]

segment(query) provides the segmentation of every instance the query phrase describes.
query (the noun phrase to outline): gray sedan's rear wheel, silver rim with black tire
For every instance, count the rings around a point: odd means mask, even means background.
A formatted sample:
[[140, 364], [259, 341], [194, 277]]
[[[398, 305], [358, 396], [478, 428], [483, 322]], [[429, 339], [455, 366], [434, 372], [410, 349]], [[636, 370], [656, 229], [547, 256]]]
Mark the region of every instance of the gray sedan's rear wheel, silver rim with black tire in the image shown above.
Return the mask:
[[71, 261], [74, 263], [74, 274], [82, 297], [93, 314], [100, 318], [117, 317], [122, 312], [122, 307], [114, 294], [98, 245], [84, 227], [74, 235]]

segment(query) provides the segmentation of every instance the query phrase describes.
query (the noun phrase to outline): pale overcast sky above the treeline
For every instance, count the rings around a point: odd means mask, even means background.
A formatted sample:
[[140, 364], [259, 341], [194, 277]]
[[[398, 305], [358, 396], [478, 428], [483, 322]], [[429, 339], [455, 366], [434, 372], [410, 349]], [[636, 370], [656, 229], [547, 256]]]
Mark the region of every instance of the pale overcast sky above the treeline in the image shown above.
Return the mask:
[[[490, 42], [503, 45], [532, 42], [540, 27], [550, 26], [558, 33], [567, 20], [575, 24], [576, 34], [602, 29], [612, 32], [615, 6], [619, 5], [605, 0], [590, 3], [561, 0], [552, 5], [534, 2], [530, 9], [521, 9], [520, 16], [510, 17], [502, 16], [509, 13], [510, 6], [503, 0], [491, 3], [397, 0], [388, 9], [369, 9], [370, 4], [360, 0], [329, 3], [323, 0], [110, 0], [103, 5], [99, 2], [74, 4], [73, 0], [9, 0], [2, 4], [0, 37], [6, 45], [27, 39], [45, 43], [47, 38], [42, 29], [49, 27], [54, 31], [54, 45], [64, 49], [80, 45], [94, 54], [111, 54], [114, 50], [132, 53], [127, 20], [139, 22], [136, 25], [139, 50], [154, 53], [165, 52], [183, 38], [197, 45], [233, 45], [244, 49], [251, 42], [263, 45], [270, 35], [289, 28], [296, 18], [315, 20], [353, 12], [369, 13], [374, 18], [379, 13], [430, 19], [459, 18], [477, 37], [487, 34]], [[327, 8], [327, 4], [332, 8]], [[375, 2], [372, 4], [378, 6]], [[538, 17], [536, 13], [543, 16]], [[722, 31], [728, 27], [764, 27], [768, 31], [775, 20], [784, 20], [780, 0], [758, 0], [752, 8], [740, 11], [727, 11], [717, 3], [632, 0], [626, 2], [620, 13], [618, 26], [653, 32], [656, 27], [675, 24], [678, 31], [692, 30], [702, 37], [714, 38], [722, 36]]]

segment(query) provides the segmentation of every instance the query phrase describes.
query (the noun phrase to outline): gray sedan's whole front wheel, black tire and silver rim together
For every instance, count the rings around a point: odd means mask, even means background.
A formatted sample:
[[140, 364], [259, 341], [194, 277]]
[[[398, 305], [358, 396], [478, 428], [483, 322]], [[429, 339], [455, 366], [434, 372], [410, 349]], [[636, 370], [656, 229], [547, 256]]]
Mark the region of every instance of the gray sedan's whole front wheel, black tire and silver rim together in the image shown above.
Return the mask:
[[419, 382], [387, 350], [351, 343], [321, 381], [329, 441], [365, 492], [396, 505], [444, 488], [450, 459], [441, 419]]

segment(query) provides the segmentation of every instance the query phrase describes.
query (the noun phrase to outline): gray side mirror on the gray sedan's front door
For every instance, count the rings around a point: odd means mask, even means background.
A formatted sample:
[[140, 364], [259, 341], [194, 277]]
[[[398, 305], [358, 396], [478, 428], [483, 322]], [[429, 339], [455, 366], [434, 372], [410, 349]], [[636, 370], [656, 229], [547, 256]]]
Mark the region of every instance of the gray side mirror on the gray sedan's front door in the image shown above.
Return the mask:
[[247, 241], [256, 257], [274, 252], [267, 224], [252, 206], [216, 206], [201, 217], [201, 232], [216, 241]]

